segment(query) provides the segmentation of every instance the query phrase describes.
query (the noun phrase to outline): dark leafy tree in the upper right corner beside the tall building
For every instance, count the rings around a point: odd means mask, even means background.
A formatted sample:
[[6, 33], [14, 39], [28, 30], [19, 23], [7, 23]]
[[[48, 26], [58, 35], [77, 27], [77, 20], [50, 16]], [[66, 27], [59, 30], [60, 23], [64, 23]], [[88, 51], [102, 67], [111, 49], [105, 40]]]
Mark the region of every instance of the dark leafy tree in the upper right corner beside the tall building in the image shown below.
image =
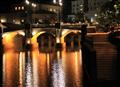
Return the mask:
[[101, 25], [120, 23], [120, 1], [107, 1], [100, 9], [98, 21]]

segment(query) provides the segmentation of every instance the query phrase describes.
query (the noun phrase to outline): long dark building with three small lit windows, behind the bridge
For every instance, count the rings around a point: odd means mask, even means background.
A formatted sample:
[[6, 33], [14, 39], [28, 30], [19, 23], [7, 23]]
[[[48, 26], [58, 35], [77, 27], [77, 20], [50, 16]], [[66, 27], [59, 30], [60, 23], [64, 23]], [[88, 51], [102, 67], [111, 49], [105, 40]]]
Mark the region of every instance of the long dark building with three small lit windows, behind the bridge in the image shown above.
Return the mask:
[[59, 6], [51, 3], [37, 3], [26, 5], [26, 3], [14, 4], [9, 13], [0, 13], [0, 21], [7, 23], [32, 24], [54, 23], [57, 21]]

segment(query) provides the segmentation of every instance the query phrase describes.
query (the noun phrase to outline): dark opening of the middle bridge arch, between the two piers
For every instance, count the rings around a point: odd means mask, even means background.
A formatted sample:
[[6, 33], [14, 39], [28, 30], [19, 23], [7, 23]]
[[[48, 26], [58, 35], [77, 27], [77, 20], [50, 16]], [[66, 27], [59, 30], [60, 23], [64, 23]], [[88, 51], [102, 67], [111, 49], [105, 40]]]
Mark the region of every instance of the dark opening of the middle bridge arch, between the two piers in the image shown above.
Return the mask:
[[39, 51], [52, 52], [55, 50], [56, 37], [49, 32], [42, 33], [37, 37]]

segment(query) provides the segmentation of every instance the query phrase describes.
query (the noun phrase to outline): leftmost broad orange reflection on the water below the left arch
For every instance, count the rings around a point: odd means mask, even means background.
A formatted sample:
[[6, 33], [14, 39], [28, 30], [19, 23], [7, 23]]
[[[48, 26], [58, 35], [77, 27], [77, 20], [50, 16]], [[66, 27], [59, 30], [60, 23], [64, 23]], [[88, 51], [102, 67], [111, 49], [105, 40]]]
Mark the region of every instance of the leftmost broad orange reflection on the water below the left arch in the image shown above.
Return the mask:
[[[16, 87], [19, 84], [18, 54], [9, 50], [3, 57], [3, 85], [4, 87]], [[13, 84], [14, 83], [14, 84]]]

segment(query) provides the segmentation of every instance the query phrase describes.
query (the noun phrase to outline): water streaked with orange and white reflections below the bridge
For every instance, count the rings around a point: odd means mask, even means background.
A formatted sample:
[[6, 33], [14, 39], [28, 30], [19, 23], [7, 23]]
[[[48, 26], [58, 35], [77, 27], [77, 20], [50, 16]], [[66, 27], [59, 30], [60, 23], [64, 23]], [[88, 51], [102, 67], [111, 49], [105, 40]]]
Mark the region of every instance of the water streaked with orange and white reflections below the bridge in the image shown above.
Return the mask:
[[3, 56], [3, 77], [4, 87], [83, 87], [81, 51], [8, 50]]

